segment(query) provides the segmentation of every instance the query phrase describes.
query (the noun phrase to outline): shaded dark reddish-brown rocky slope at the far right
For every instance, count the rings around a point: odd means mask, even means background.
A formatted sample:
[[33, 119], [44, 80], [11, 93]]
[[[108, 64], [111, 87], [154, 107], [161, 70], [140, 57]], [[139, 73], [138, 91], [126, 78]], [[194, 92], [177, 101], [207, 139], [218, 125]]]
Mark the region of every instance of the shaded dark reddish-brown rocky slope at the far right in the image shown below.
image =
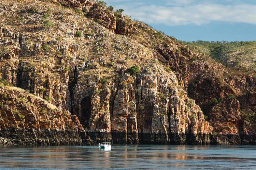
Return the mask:
[[[256, 81], [253, 73], [236, 74], [233, 70], [214, 62], [209, 56], [200, 56], [188, 48], [175, 45], [159, 44], [155, 56], [159, 61], [168, 64], [176, 77], [184, 82], [188, 96], [194, 99], [204, 115], [208, 116], [207, 120], [213, 126], [213, 131], [218, 132], [219, 143], [255, 143], [253, 122], [256, 112]], [[230, 95], [237, 100], [228, 102]], [[234, 118], [234, 114], [237, 117]], [[247, 131], [247, 128], [250, 130]], [[222, 132], [223, 129], [226, 130]]]

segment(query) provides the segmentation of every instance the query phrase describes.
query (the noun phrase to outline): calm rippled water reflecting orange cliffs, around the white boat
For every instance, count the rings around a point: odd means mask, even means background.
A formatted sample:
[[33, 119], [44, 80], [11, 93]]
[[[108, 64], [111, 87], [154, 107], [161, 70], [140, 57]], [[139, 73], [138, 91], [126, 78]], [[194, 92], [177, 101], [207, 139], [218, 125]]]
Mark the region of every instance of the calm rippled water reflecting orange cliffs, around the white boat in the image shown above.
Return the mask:
[[255, 169], [256, 146], [0, 147], [0, 169]]

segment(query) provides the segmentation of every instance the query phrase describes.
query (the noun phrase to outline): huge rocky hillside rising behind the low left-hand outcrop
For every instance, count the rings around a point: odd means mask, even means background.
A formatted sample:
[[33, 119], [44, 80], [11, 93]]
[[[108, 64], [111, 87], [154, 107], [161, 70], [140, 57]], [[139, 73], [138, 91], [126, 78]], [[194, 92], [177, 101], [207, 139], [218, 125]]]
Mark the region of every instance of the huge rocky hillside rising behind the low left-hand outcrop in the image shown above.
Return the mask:
[[87, 144], [255, 143], [253, 73], [103, 1], [2, 2], [1, 82], [76, 115]]

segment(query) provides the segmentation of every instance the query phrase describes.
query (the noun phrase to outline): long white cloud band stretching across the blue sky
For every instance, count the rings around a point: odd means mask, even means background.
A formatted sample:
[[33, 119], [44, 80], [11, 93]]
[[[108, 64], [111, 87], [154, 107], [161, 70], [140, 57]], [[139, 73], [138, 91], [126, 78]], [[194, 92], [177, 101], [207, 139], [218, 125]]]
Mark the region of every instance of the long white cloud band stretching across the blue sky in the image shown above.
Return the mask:
[[[189, 3], [192, 1], [182, 0], [180, 2]], [[169, 7], [148, 5], [124, 9], [128, 16], [149, 24], [202, 25], [212, 21], [256, 24], [256, 5], [252, 4], [196, 4]]]

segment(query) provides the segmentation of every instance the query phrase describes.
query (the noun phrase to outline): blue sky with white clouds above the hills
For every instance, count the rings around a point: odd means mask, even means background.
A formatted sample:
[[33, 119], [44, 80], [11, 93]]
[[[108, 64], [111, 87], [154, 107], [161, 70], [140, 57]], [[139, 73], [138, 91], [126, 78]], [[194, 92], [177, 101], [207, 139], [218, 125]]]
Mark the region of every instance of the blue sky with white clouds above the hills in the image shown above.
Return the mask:
[[104, 1], [178, 40], [256, 40], [256, 0]]

